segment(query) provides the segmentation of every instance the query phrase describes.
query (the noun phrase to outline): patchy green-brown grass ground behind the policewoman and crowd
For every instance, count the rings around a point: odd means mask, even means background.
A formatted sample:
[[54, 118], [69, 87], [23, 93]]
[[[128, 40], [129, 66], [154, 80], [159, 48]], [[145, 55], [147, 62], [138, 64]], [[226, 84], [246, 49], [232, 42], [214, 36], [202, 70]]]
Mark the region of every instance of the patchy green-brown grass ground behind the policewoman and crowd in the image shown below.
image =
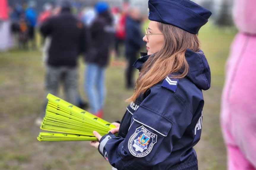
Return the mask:
[[[199, 38], [212, 72], [210, 90], [204, 91], [203, 129], [195, 146], [200, 170], [225, 170], [226, 152], [219, 124], [224, 67], [235, 31], [204, 26]], [[79, 62], [79, 91], [83, 90], [84, 63]], [[106, 72], [104, 113], [109, 122], [120, 120], [133, 92], [124, 87], [123, 66]], [[63, 94], [60, 93], [61, 98]], [[0, 169], [1, 170], [110, 170], [111, 166], [85, 141], [39, 142], [42, 130], [34, 125], [44, 94], [44, 67], [40, 51], [0, 52]]]

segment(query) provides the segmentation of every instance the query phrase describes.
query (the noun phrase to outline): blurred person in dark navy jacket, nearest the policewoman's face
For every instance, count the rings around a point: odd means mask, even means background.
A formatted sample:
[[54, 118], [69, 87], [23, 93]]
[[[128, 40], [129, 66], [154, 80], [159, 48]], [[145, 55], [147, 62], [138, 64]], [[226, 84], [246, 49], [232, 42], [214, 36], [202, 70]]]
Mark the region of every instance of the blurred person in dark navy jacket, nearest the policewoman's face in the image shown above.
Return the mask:
[[134, 87], [133, 74], [135, 68], [133, 63], [136, 61], [141, 45], [144, 43], [141, 34], [140, 13], [137, 7], [130, 7], [125, 22], [125, 30], [125, 56], [128, 61], [125, 70], [125, 83], [126, 88], [129, 89]]

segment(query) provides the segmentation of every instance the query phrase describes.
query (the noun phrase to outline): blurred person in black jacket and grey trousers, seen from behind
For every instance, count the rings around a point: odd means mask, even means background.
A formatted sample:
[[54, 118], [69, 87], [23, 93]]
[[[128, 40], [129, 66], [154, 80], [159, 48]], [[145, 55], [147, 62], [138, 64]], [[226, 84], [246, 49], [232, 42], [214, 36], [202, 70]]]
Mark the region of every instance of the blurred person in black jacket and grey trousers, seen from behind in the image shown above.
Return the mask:
[[[47, 94], [58, 94], [59, 85], [63, 83], [66, 101], [77, 106], [77, 59], [80, 47], [85, 48], [86, 30], [82, 22], [71, 14], [71, 3], [59, 2], [59, 13], [42, 23], [40, 32], [50, 37], [46, 59], [45, 86]], [[44, 111], [41, 118], [44, 116]]]

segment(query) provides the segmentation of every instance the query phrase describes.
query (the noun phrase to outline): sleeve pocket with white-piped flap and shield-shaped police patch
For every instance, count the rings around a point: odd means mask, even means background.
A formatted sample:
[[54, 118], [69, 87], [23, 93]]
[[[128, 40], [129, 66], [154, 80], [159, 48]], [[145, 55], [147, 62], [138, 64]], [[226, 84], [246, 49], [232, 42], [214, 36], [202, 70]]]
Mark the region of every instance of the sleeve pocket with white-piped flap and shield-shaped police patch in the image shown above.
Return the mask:
[[[122, 150], [127, 156], [123, 163], [152, 167], [168, 158], [171, 140], [168, 133], [173, 122], [143, 106], [134, 112]], [[153, 161], [152, 161], [153, 160]]]

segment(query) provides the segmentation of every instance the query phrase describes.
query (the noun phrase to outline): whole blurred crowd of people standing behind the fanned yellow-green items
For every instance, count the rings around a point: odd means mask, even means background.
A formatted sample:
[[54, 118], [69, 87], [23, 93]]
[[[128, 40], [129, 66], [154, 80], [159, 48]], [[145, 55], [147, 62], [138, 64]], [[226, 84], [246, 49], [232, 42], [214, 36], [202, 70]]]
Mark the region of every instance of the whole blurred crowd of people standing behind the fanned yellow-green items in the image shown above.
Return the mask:
[[[133, 63], [141, 48], [145, 48], [142, 24], [147, 12], [143, 15], [138, 7], [127, 2], [122, 7], [111, 7], [106, 1], [97, 1], [76, 8], [74, 1], [60, 0], [54, 4], [46, 2], [40, 12], [36, 5], [36, 1], [28, 1], [10, 6], [10, 31], [19, 50], [34, 50], [39, 41], [46, 71], [45, 95], [58, 95], [63, 85], [66, 101], [88, 106], [92, 114], [103, 117], [105, 70], [111, 56], [114, 64], [127, 66], [125, 88], [134, 87]], [[82, 101], [77, 87], [79, 56], [83, 56], [86, 64], [83, 86], [88, 103]], [[38, 124], [46, 104], [47, 101], [36, 120]]]

